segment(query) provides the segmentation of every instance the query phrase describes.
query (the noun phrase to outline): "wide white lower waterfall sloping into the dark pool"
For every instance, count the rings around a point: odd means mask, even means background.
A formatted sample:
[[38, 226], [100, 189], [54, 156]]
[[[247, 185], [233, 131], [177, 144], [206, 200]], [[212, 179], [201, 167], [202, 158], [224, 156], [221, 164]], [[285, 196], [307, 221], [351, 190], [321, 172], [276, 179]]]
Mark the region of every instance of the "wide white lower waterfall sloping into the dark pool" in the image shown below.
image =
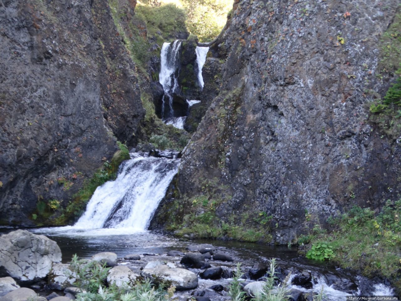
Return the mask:
[[86, 229], [132, 228], [147, 230], [168, 185], [178, 171], [179, 159], [131, 154], [115, 181], [97, 187], [86, 212], [74, 225]]

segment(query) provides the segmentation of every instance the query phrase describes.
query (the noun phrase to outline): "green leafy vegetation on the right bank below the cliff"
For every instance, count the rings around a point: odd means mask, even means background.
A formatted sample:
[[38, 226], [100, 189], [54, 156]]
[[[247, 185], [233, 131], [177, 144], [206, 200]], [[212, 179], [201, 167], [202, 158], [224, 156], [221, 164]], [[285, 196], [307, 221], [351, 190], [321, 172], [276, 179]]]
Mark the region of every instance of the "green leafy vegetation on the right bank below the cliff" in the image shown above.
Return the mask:
[[331, 233], [310, 234], [312, 248], [306, 255], [361, 270], [367, 277], [381, 275], [399, 281], [396, 275], [401, 258], [400, 215], [401, 199], [387, 200], [379, 214], [354, 206], [338, 218]]

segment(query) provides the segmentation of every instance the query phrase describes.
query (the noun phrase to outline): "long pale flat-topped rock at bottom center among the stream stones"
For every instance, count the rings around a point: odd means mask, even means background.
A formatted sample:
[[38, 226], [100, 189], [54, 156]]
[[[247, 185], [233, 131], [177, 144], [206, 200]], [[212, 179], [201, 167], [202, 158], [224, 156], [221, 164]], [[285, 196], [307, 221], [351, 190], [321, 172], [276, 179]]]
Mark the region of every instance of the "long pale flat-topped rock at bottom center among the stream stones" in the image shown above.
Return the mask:
[[166, 264], [160, 264], [154, 268], [147, 268], [148, 265], [142, 270], [142, 276], [144, 277], [157, 277], [163, 281], [171, 282], [171, 285], [174, 285], [177, 290], [194, 289], [198, 286], [198, 276], [189, 270], [171, 268]]

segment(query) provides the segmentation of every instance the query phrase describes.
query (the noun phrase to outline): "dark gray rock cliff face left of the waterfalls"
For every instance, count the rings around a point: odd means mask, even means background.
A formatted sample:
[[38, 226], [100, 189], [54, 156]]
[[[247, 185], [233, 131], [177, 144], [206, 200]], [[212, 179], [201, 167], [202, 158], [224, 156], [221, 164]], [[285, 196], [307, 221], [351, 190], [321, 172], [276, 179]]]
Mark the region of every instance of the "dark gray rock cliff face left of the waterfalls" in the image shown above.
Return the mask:
[[[133, 14], [136, 1], [127, 4]], [[0, 221], [71, 198], [145, 110], [107, 1], [0, 2]]]

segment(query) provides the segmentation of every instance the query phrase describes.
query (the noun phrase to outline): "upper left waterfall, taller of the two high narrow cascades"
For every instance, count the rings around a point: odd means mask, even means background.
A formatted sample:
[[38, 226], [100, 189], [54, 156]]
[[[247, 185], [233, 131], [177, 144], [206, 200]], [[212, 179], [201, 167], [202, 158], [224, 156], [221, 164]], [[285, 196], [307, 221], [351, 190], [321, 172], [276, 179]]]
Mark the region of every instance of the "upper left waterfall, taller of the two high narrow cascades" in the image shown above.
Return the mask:
[[176, 93], [178, 90], [178, 72], [176, 71], [180, 64], [180, 48], [180, 40], [176, 40], [172, 43], [163, 43], [160, 53], [159, 82], [162, 84], [164, 90], [162, 100], [163, 119], [174, 116], [172, 94]]

